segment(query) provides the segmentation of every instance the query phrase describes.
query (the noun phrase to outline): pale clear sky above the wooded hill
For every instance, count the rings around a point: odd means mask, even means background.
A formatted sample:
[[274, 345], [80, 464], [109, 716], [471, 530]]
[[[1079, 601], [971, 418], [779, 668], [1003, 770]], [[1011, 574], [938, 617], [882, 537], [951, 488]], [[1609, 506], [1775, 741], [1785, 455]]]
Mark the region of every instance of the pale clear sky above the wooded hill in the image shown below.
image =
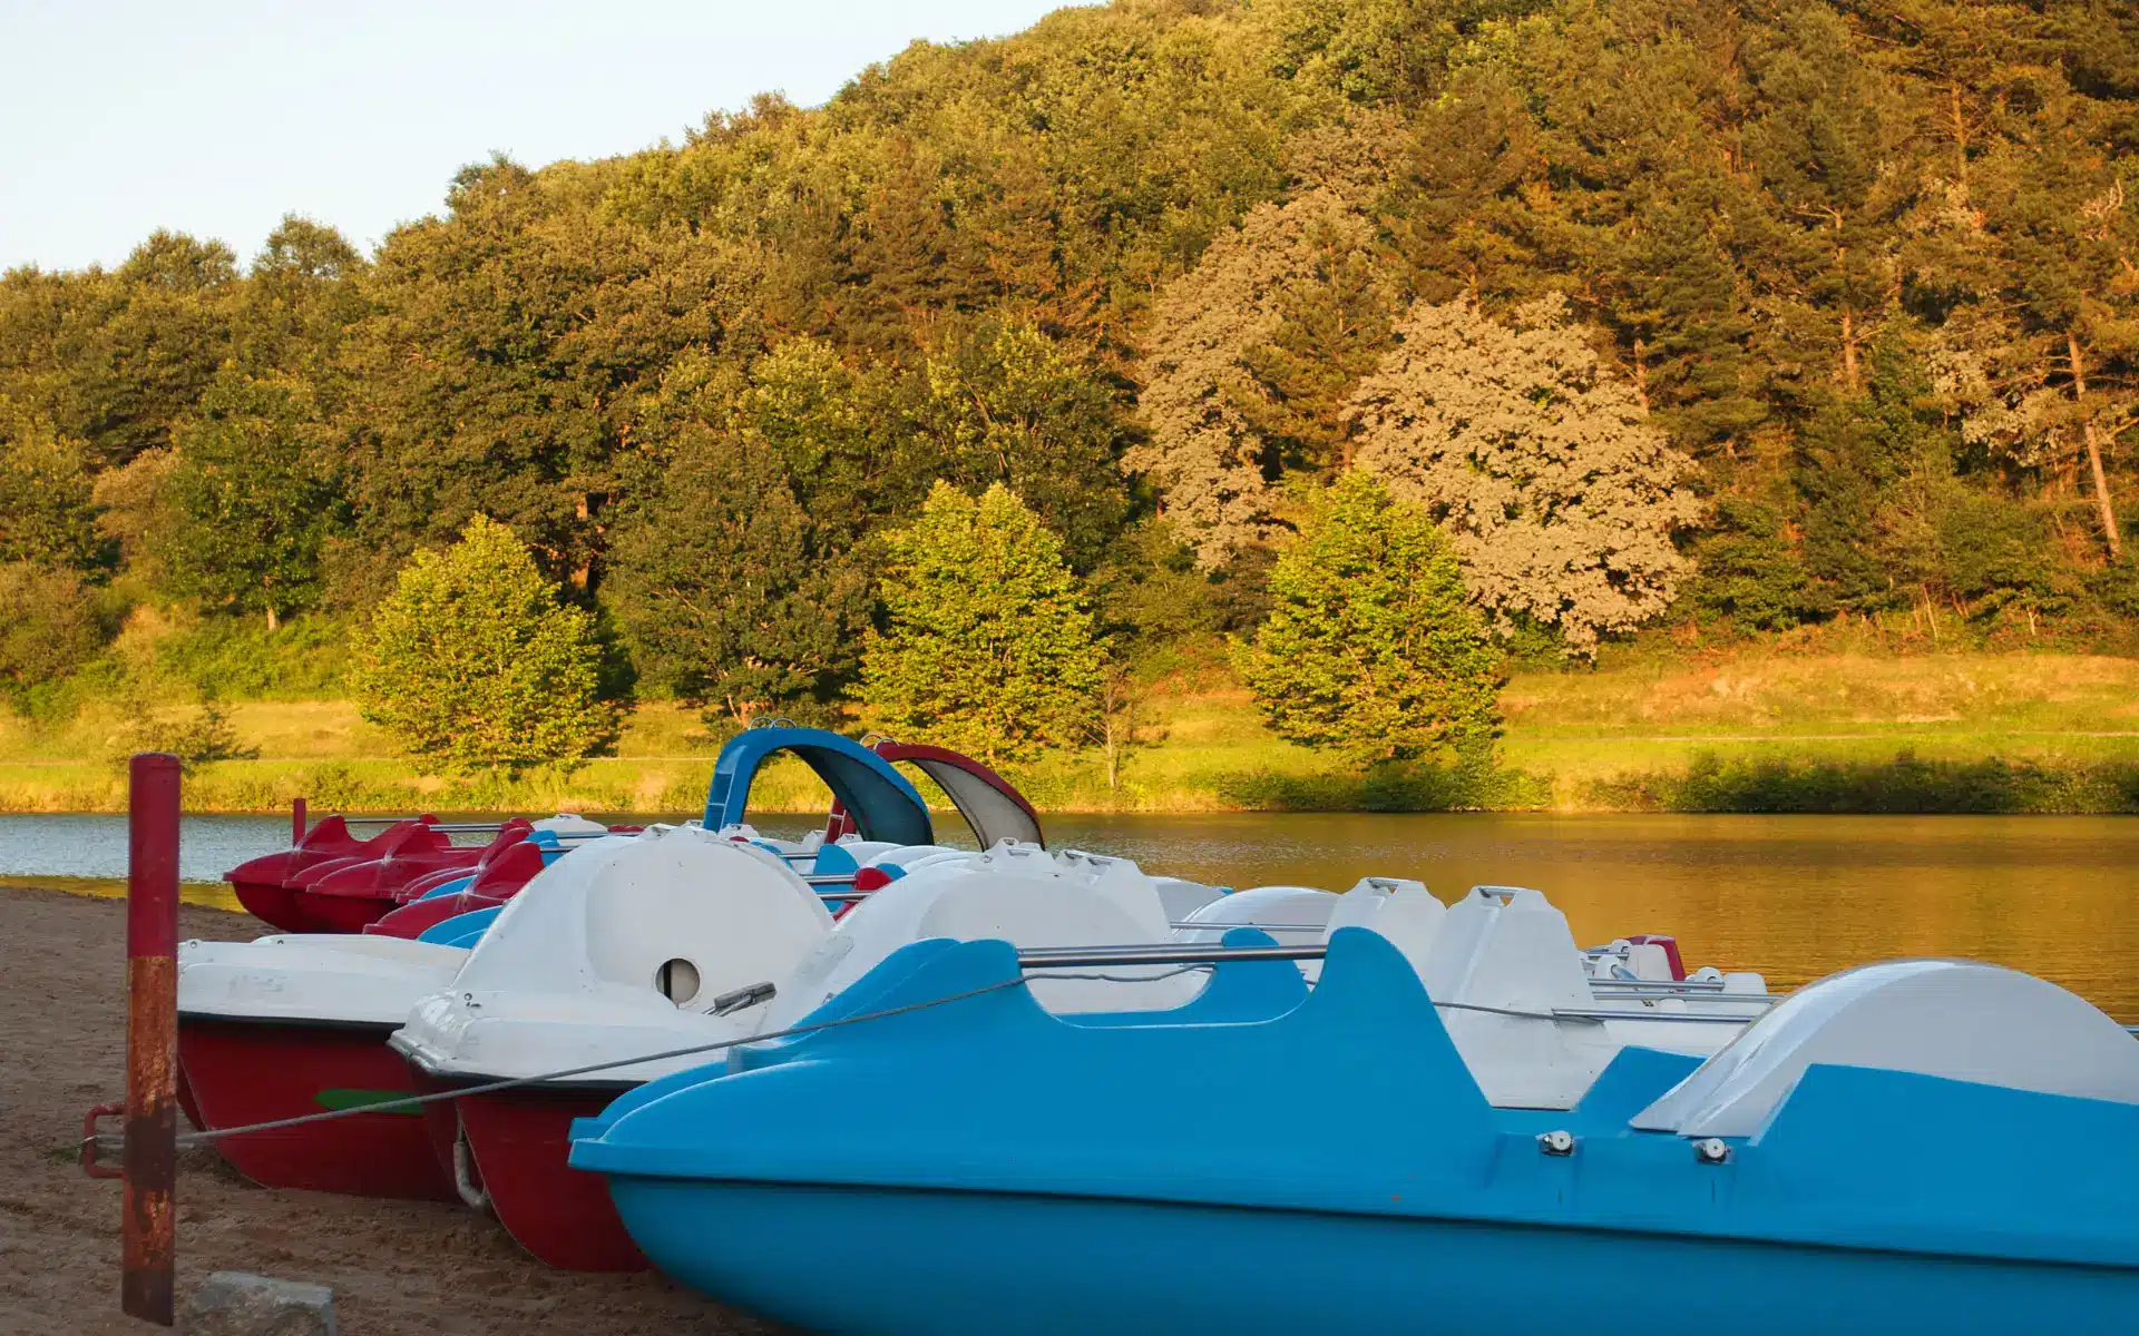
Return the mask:
[[0, 269], [109, 267], [158, 227], [248, 261], [291, 212], [372, 248], [494, 150], [680, 141], [1067, 2], [0, 0]]

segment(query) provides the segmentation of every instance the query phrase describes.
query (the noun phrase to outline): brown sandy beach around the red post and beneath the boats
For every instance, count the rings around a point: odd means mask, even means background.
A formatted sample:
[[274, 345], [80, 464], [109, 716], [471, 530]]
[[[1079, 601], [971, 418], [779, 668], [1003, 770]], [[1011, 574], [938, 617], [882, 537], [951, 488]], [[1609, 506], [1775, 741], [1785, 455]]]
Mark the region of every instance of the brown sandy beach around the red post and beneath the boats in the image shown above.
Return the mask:
[[[186, 906], [180, 936], [250, 938]], [[124, 1094], [124, 904], [0, 887], [0, 1334], [150, 1332], [118, 1306], [120, 1184], [75, 1163], [81, 1114]], [[772, 1334], [657, 1274], [554, 1272], [458, 1206], [276, 1193], [193, 1150], [178, 1293], [216, 1270], [327, 1285], [347, 1336]]]

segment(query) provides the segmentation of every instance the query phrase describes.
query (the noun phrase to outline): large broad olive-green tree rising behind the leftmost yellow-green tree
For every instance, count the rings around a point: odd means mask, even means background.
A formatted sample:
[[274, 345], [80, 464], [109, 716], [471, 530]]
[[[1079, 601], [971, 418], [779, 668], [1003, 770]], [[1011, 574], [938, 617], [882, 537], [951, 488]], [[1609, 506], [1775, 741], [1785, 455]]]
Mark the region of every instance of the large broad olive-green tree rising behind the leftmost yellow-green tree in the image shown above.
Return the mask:
[[712, 252], [607, 220], [509, 160], [464, 169], [447, 218], [396, 231], [361, 286], [344, 368], [366, 547], [409, 552], [468, 515], [586, 586], [637, 400], [714, 333]]

